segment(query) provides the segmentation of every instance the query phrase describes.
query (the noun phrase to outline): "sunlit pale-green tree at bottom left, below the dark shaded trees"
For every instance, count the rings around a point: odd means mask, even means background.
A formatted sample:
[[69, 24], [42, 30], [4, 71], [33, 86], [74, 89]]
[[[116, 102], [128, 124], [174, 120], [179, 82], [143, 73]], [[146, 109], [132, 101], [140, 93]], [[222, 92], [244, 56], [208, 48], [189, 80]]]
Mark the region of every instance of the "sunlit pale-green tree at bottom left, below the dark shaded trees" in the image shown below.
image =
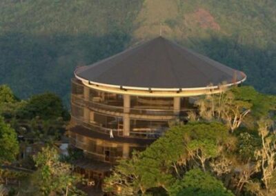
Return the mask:
[[83, 195], [76, 184], [81, 177], [75, 175], [70, 164], [63, 163], [55, 148], [42, 148], [34, 156], [37, 170], [32, 175], [32, 184], [39, 195]]

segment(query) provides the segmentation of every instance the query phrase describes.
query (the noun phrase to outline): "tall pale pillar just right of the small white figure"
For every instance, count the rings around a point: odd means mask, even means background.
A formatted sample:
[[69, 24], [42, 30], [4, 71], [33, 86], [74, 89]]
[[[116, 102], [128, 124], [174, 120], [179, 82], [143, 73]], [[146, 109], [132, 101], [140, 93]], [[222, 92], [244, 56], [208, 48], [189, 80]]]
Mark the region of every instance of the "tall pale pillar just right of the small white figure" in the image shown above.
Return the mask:
[[124, 95], [124, 136], [130, 135], [130, 95]]

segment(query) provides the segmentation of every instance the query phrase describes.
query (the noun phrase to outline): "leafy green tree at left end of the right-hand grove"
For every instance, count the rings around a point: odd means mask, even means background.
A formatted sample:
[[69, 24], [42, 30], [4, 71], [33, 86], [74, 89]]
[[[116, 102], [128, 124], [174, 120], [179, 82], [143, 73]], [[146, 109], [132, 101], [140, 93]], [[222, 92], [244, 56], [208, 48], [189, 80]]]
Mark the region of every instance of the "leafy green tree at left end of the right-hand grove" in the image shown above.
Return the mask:
[[[119, 161], [110, 177], [105, 179], [105, 191], [119, 195], [146, 194], [150, 188], [168, 191], [175, 177], [181, 175], [179, 166], [185, 154], [183, 127], [175, 126], [145, 151], [134, 153], [129, 160]], [[124, 193], [124, 194], [123, 194]]]

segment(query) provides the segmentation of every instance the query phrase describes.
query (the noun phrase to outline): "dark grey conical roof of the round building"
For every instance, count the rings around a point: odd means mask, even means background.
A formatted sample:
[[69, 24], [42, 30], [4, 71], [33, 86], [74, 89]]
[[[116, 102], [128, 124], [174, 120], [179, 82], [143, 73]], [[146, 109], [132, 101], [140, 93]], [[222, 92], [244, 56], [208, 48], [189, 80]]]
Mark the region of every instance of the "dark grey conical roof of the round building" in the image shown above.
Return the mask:
[[157, 37], [91, 66], [76, 70], [89, 81], [142, 88], [197, 88], [233, 83], [243, 72]]

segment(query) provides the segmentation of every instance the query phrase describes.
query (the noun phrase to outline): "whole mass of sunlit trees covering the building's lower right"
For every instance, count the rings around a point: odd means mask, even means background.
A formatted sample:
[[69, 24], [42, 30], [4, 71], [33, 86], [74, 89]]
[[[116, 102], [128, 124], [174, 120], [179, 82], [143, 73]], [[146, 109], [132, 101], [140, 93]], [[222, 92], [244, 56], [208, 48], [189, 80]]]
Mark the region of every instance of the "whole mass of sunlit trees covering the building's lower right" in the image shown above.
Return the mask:
[[105, 179], [117, 195], [275, 195], [276, 97], [249, 86], [197, 100], [146, 150]]

